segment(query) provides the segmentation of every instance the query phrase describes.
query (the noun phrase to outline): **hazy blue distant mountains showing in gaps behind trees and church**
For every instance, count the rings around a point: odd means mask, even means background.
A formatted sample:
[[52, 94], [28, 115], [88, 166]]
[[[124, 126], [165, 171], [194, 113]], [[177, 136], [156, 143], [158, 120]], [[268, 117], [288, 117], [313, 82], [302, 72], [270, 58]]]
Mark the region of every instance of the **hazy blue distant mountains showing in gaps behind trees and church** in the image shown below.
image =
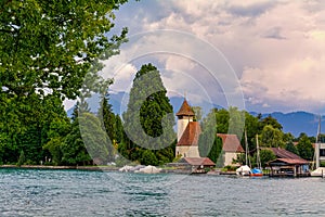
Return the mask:
[[[93, 101], [93, 100], [92, 100]], [[94, 100], [96, 101], [96, 100]], [[129, 101], [129, 95], [126, 92], [112, 92], [109, 94], [109, 103], [113, 105], [113, 112], [115, 114], [122, 114], [126, 111], [127, 104]], [[173, 112], [177, 113], [183, 102], [183, 98], [181, 97], [171, 97], [170, 103], [173, 106]], [[91, 111], [98, 112], [99, 103], [90, 103]], [[190, 102], [191, 104], [191, 102]], [[194, 104], [191, 104], [194, 106]], [[219, 105], [211, 105], [209, 102], [200, 103], [198, 106], [203, 107], [204, 114], [207, 114], [211, 107], [222, 108]], [[70, 108], [67, 111], [68, 116], [73, 114], [73, 110]], [[251, 115], [257, 116], [258, 113], [250, 112]], [[276, 118], [277, 122], [283, 126], [284, 132], [291, 132], [295, 137], [298, 137], [301, 132], [307, 133], [308, 136], [315, 136], [317, 133], [317, 125], [318, 125], [318, 117], [315, 114], [307, 113], [307, 112], [291, 112], [291, 113], [268, 113], [262, 114], [262, 117], [266, 117], [271, 115], [272, 117]], [[322, 126], [325, 126], [325, 118], [322, 122]]]

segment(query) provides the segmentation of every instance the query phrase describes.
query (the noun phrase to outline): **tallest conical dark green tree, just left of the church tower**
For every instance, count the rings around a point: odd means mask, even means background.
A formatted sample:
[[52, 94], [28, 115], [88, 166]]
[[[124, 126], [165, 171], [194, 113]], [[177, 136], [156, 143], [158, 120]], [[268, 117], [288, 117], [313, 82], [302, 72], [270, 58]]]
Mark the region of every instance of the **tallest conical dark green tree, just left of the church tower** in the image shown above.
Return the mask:
[[142, 152], [151, 150], [159, 162], [172, 161], [171, 145], [176, 140], [172, 105], [159, 72], [151, 63], [142, 65], [135, 74], [123, 122], [130, 159], [141, 162]]

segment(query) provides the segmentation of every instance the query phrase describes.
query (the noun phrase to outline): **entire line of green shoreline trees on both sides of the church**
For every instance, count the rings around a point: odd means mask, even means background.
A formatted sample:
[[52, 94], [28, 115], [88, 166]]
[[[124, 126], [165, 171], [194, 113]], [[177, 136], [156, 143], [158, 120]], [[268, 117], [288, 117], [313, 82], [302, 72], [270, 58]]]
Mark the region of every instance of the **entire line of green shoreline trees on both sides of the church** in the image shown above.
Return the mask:
[[[162, 165], [176, 159], [173, 108], [159, 72], [152, 64], [143, 65], [136, 73], [122, 117], [114, 114], [107, 92], [102, 97], [96, 113], [92, 113], [87, 101], [83, 101], [82, 104], [77, 103], [70, 118], [57, 98], [49, 95], [39, 104], [35, 102], [30, 112], [39, 116], [29, 117], [26, 129], [12, 135], [1, 133], [1, 164], [104, 165], [115, 162], [122, 165], [129, 161]], [[230, 107], [213, 108], [202, 119], [202, 108], [194, 107], [194, 111], [200, 114], [195, 119], [203, 129], [199, 153], [210, 157], [217, 165], [222, 164], [222, 141], [217, 132], [236, 135], [245, 149], [243, 129], [247, 132], [247, 148], [252, 164], [256, 163], [256, 136], [261, 148], [282, 148], [302, 158], [313, 158], [312, 142], [315, 138], [306, 133], [298, 138], [284, 133], [282, 125], [272, 116], [262, 118], [261, 115], [253, 116]], [[80, 122], [89, 127], [80, 131]], [[84, 140], [91, 141], [90, 146], [84, 144]], [[93, 154], [92, 150], [96, 153]], [[263, 164], [275, 158], [272, 152], [263, 149], [260, 155]], [[244, 164], [244, 154], [239, 155], [237, 162]]]

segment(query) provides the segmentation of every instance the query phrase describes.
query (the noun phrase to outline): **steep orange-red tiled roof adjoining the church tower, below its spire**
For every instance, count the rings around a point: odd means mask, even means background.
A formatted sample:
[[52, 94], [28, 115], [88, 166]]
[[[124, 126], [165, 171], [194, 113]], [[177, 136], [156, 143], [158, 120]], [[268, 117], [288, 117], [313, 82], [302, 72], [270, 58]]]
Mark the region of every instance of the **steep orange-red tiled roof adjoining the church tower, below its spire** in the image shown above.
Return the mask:
[[198, 145], [200, 127], [197, 122], [190, 122], [177, 145]]

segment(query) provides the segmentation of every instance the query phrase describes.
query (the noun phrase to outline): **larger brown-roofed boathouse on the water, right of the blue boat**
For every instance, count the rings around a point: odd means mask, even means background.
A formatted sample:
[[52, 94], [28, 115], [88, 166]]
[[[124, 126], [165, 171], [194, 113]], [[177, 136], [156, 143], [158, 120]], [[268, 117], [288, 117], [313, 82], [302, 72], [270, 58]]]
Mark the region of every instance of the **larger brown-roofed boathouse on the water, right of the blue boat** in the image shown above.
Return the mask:
[[269, 148], [277, 157], [266, 165], [271, 177], [306, 177], [310, 176], [309, 162], [287, 150]]

